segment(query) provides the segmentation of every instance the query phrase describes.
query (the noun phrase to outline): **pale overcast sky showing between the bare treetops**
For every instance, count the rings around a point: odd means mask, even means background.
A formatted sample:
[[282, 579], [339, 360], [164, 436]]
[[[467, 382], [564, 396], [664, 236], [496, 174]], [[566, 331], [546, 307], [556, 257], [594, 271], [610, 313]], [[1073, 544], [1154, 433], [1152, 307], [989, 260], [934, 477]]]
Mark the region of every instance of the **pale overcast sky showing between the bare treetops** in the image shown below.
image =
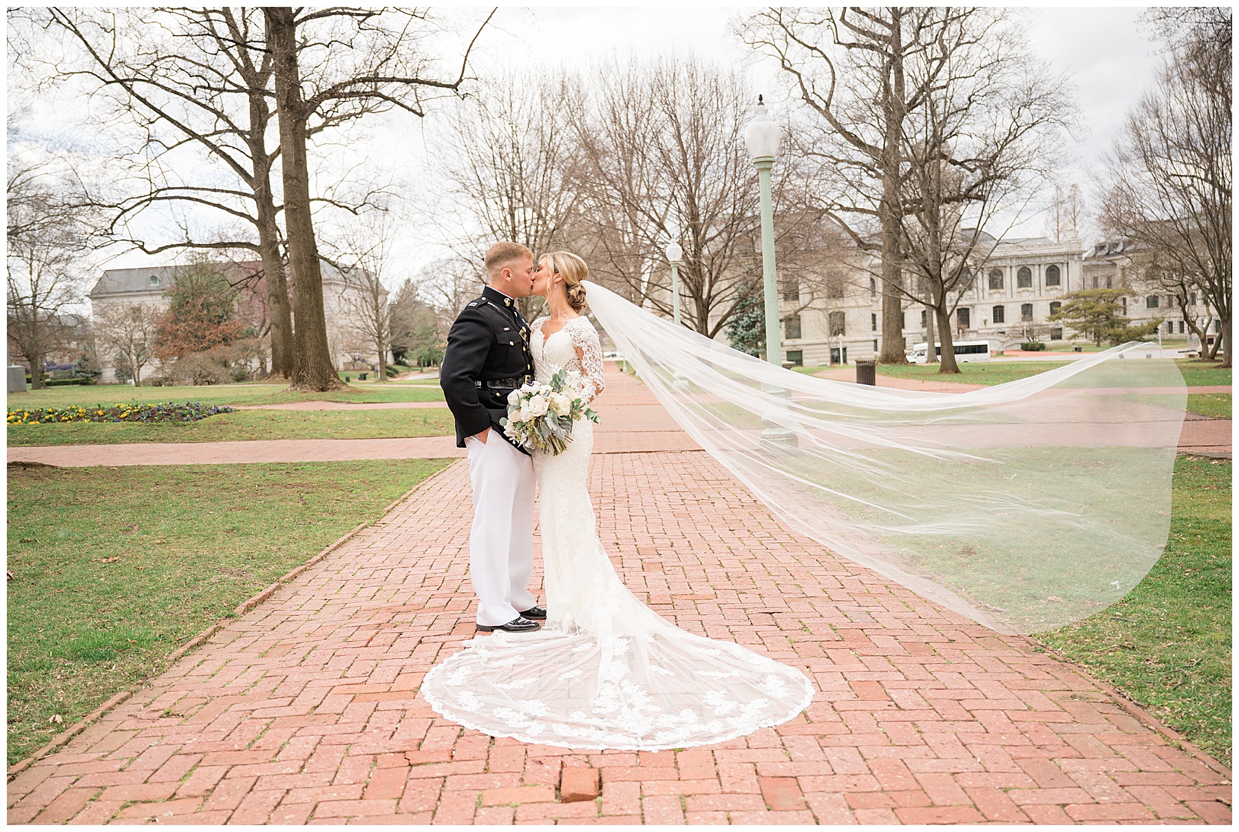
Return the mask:
[[[695, 53], [720, 63], [746, 68], [752, 86], [769, 100], [787, 100], [788, 86], [777, 67], [753, 56], [731, 33], [738, 7], [503, 7], [483, 43], [476, 71], [484, 74], [493, 63], [530, 63], [585, 68], [592, 61], [617, 53], [652, 57], [660, 53]], [[1073, 143], [1075, 164], [1064, 171], [1067, 181], [1078, 181], [1090, 191], [1088, 171], [1109, 148], [1126, 110], [1152, 81], [1157, 58], [1154, 45], [1137, 29], [1140, 9], [1043, 7], [1028, 10], [1028, 33], [1036, 50], [1051, 66], [1074, 82], [1080, 104], [1079, 140]], [[452, 15], [472, 21], [476, 10], [457, 9]], [[786, 104], [784, 104], [786, 105]], [[63, 112], [63, 110], [61, 110]], [[409, 182], [425, 181], [432, 164], [422, 144], [436, 128], [434, 114], [425, 130], [409, 130], [408, 119], [370, 131], [372, 164], [400, 169]], [[45, 125], [46, 128], [47, 125]], [[313, 150], [311, 150], [313, 155]], [[411, 185], [409, 187], [413, 187]], [[419, 223], [420, 224], [420, 223]], [[1014, 229], [1017, 236], [1043, 231], [1041, 216], [1027, 217]], [[405, 274], [435, 255], [432, 241], [413, 232], [400, 246]], [[112, 268], [165, 263], [171, 258], [125, 254]]]

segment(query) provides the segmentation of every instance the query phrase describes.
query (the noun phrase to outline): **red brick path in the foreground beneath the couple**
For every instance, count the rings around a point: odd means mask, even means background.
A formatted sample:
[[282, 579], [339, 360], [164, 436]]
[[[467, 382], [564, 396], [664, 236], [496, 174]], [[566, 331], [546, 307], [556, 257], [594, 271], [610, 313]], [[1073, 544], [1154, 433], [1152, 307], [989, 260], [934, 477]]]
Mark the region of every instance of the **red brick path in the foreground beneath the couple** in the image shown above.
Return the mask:
[[[629, 382], [600, 407], [648, 407]], [[686, 630], [803, 668], [819, 691], [803, 715], [658, 754], [435, 715], [418, 686], [473, 635], [457, 462], [17, 775], [9, 821], [1230, 822], [1229, 770], [1028, 640], [793, 533], [706, 454], [602, 454], [591, 491], [624, 583]], [[601, 800], [563, 802], [581, 768]]]

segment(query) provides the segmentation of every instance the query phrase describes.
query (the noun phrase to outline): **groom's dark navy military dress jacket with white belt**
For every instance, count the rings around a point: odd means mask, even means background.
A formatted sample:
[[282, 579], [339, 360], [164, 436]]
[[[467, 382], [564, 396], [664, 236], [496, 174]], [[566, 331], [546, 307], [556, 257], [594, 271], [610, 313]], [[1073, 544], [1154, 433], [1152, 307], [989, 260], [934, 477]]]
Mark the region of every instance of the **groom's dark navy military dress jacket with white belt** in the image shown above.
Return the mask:
[[503, 440], [528, 454], [504, 435], [499, 419], [508, 415], [508, 393], [533, 372], [529, 324], [515, 300], [487, 286], [481, 298], [465, 304], [447, 332], [439, 373], [439, 386], [456, 418], [456, 446], [463, 448], [466, 436], [494, 428]]

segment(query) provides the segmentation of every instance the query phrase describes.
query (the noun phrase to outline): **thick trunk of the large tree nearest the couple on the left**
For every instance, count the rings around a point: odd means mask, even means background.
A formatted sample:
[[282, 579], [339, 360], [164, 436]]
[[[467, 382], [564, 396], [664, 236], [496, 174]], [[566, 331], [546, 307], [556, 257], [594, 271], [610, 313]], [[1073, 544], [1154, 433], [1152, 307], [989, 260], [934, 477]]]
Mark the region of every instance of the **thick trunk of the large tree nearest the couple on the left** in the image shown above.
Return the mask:
[[268, 43], [274, 58], [275, 107], [280, 122], [280, 169], [284, 174], [284, 223], [292, 272], [292, 384], [295, 391], [346, 389], [336, 374], [327, 345], [322, 273], [310, 213], [306, 161], [306, 108], [297, 67], [296, 14], [289, 6], [266, 7]]

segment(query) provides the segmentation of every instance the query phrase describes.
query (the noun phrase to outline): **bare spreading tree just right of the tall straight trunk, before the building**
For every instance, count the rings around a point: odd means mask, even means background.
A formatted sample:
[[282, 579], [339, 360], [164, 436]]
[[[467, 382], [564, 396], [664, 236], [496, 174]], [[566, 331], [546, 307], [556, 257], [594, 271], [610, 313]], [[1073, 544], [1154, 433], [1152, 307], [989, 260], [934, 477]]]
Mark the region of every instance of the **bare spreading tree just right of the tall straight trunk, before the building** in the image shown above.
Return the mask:
[[1001, 11], [938, 7], [917, 25], [928, 31], [913, 40], [933, 46], [906, 66], [927, 94], [904, 115], [898, 242], [912, 279], [900, 291], [935, 319], [939, 372], [958, 373], [950, 316], [1001, 237], [985, 229], [1002, 216], [1010, 227], [1051, 180], [1074, 108]]

